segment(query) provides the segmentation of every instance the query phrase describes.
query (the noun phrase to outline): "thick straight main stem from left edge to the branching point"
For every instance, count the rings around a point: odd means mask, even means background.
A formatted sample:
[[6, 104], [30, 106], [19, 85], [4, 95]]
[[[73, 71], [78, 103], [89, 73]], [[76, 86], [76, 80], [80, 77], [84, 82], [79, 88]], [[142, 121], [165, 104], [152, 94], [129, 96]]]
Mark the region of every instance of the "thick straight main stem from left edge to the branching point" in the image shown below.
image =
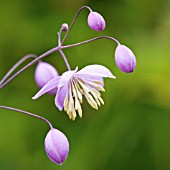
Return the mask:
[[28, 63], [25, 67], [23, 67], [21, 70], [19, 70], [17, 73], [15, 73], [13, 76], [11, 76], [4, 84], [2, 84], [0, 86], [0, 90], [5, 87], [11, 80], [13, 80], [15, 77], [17, 77], [20, 73], [22, 73], [24, 70], [26, 70], [27, 68], [31, 67], [34, 63], [38, 62], [40, 59], [46, 57], [47, 55], [58, 51], [58, 46], [55, 48], [52, 48], [51, 50], [45, 52], [44, 54], [40, 55], [39, 57], [37, 57], [36, 59], [34, 59], [33, 61], [31, 61], [30, 63]]

